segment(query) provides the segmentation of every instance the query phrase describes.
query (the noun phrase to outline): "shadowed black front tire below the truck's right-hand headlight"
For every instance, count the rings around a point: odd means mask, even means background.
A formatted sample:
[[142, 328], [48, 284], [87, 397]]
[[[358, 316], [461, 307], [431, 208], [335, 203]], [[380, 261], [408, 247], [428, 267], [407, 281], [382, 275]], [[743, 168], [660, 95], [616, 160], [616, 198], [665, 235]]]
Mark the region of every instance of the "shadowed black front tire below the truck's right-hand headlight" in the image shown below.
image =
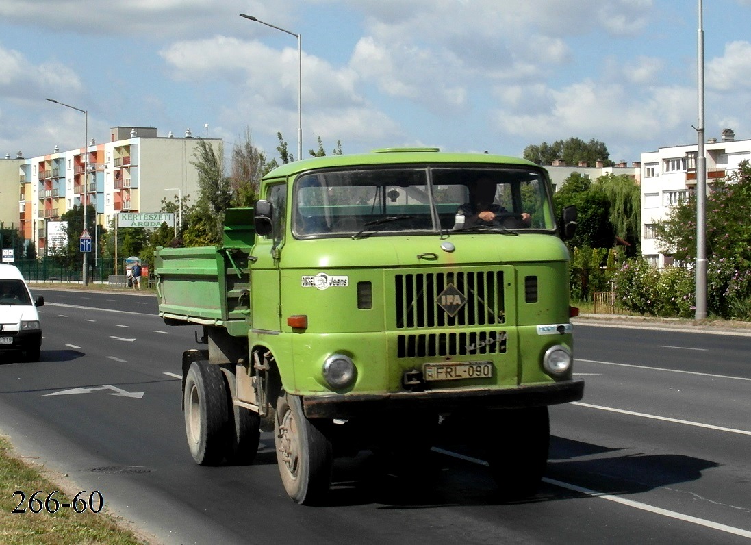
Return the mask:
[[502, 442], [488, 450], [488, 465], [502, 498], [528, 498], [537, 492], [547, 466], [550, 420], [547, 407], [499, 412]]

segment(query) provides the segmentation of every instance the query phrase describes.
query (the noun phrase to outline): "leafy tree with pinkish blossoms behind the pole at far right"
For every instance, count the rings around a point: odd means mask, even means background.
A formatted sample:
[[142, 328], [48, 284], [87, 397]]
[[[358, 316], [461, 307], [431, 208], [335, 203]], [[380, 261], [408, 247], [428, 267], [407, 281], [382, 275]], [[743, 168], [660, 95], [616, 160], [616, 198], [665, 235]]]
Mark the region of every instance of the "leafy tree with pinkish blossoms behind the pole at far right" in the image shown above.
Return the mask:
[[[751, 267], [751, 166], [743, 161], [738, 170], [712, 185], [707, 194], [707, 257], [728, 260], [740, 268]], [[696, 197], [673, 206], [668, 219], [656, 225], [661, 250], [681, 262], [696, 259]]]

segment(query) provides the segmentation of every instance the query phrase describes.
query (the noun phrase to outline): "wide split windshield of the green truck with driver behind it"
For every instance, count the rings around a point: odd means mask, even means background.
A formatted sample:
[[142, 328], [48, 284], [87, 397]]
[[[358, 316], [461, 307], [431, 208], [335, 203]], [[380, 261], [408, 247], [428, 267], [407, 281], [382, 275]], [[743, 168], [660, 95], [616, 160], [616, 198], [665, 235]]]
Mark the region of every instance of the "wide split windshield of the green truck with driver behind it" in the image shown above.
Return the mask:
[[317, 171], [295, 182], [292, 228], [301, 238], [550, 231], [547, 187], [523, 166]]

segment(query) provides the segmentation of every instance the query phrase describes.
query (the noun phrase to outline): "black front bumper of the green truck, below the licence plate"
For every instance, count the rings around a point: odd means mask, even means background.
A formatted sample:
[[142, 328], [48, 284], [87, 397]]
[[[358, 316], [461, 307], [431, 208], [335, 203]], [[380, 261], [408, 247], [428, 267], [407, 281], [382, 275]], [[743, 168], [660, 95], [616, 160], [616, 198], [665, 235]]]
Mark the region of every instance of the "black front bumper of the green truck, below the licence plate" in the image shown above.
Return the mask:
[[385, 394], [303, 396], [308, 418], [356, 418], [390, 412], [450, 414], [469, 408], [503, 409], [557, 405], [584, 396], [584, 380], [486, 390], [433, 390]]

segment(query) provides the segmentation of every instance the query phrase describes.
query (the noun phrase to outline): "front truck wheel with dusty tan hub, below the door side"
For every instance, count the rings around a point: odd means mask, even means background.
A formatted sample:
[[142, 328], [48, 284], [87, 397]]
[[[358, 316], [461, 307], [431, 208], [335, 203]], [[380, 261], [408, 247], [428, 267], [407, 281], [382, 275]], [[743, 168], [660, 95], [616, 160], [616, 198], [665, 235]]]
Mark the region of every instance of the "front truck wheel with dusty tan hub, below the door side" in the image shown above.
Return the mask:
[[305, 417], [300, 397], [279, 395], [274, 442], [289, 497], [299, 504], [320, 504], [331, 486], [333, 448], [329, 438]]

